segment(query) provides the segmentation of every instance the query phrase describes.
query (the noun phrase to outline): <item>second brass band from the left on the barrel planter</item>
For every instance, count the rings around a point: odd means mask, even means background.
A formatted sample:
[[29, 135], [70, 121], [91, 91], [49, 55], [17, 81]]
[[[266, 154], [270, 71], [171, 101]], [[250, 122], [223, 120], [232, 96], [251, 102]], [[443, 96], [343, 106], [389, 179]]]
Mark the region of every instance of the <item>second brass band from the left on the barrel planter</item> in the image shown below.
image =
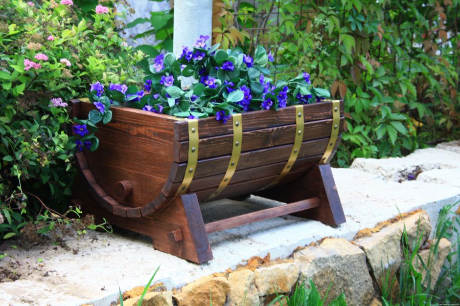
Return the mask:
[[238, 165], [238, 160], [240, 159], [241, 155], [241, 146], [243, 141], [243, 124], [242, 124], [242, 117], [241, 114], [232, 114], [233, 118], [233, 148], [231, 149], [231, 157], [229, 162], [229, 167], [222, 178], [222, 181], [219, 184], [219, 187], [212, 193], [207, 200], [216, 197], [220, 194], [225, 187], [230, 183], [231, 178], [235, 174], [236, 166]]

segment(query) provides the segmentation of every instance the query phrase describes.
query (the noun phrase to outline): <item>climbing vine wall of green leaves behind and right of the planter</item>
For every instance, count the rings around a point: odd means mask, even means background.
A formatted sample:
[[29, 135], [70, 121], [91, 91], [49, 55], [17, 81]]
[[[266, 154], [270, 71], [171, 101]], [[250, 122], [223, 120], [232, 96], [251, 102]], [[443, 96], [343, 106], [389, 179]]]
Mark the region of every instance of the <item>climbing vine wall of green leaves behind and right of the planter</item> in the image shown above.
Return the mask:
[[459, 0], [222, 0], [213, 37], [265, 44], [277, 75], [307, 71], [345, 100], [340, 166], [459, 137]]

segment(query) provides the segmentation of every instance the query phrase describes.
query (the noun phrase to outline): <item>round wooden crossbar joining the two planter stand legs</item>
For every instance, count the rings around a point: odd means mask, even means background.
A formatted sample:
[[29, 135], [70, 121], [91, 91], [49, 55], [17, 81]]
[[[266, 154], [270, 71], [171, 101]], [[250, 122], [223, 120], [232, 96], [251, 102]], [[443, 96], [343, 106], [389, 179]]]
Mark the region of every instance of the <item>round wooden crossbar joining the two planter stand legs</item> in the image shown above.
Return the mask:
[[310, 199], [301, 200], [294, 203], [289, 203], [286, 205], [276, 206], [272, 208], [267, 208], [259, 210], [257, 212], [244, 214], [241, 216], [236, 216], [228, 219], [222, 219], [205, 224], [206, 232], [214, 233], [222, 231], [228, 228], [237, 227], [243, 224], [248, 224], [260, 220], [271, 219], [283, 215], [292, 214], [298, 211], [303, 211], [306, 209], [311, 209], [318, 207], [320, 205], [317, 197]]

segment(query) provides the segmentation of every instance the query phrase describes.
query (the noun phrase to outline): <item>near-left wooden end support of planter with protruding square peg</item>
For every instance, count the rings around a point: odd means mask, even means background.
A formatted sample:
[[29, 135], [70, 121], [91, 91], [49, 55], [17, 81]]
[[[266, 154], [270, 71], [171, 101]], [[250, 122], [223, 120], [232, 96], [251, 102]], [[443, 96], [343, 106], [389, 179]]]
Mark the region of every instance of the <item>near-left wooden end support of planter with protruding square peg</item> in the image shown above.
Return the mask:
[[86, 191], [81, 182], [76, 183], [78, 199], [72, 205], [81, 205], [84, 213], [107, 219], [110, 224], [152, 237], [155, 249], [203, 263], [212, 259], [211, 247], [196, 194], [176, 197], [169, 206], [151, 217], [122, 218], [102, 208]]

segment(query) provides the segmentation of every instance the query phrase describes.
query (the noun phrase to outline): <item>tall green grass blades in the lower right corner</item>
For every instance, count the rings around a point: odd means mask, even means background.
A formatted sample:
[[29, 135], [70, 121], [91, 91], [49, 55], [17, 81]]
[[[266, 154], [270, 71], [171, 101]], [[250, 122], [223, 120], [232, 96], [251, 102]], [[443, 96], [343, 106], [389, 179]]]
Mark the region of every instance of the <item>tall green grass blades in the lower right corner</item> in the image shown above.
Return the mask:
[[[456, 203], [458, 204], [458, 203]], [[451, 239], [453, 237], [452, 231], [457, 233], [458, 244], [460, 239], [458, 236], [458, 228], [455, 227], [456, 222], [460, 225], [460, 218], [458, 216], [449, 219], [449, 214], [452, 208], [456, 205], [447, 205], [439, 212], [439, 218], [436, 223], [436, 230], [433, 234], [433, 239], [430, 244], [428, 260], [425, 262], [419, 255], [422, 249], [423, 234], [420, 228], [417, 227], [416, 237], [412, 246], [408, 245], [408, 235], [406, 227], [403, 229], [402, 234], [402, 250], [403, 250], [403, 263], [399, 270], [399, 290], [396, 301], [393, 301], [393, 284], [396, 281], [396, 276], [390, 280], [389, 272], [384, 276], [382, 284], [382, 301], [384, 306], [416, 306], [416, 305], [432, 305], [439, 298], [432, 294], [430, 288], [433, 282], [437, 282], [435, 292], [444, 295], [440, 300], [446, 303], [459, 302], [459, 268], [458, 262], [452, 262], [453, 256], [458, 253], [453, 252], [448, 256], [448, 265], [444, 266], [443, 273], [439, 276], [438, 280], [432, 279], [431, 269], [437, 259], [439, 241], [442, 238]], [[458, 249], [457, 249], [458, 250]], [[457, 256], [458, 257], [458, 256]], [[383, 268], [383, 267], [382, 267]], [[425, 276], [423, 276], [425, 273]], [[441, 287], [443, 283], [449, 284], [447, 288]], [[441, 289], [441, 290], [439, 290]]]

